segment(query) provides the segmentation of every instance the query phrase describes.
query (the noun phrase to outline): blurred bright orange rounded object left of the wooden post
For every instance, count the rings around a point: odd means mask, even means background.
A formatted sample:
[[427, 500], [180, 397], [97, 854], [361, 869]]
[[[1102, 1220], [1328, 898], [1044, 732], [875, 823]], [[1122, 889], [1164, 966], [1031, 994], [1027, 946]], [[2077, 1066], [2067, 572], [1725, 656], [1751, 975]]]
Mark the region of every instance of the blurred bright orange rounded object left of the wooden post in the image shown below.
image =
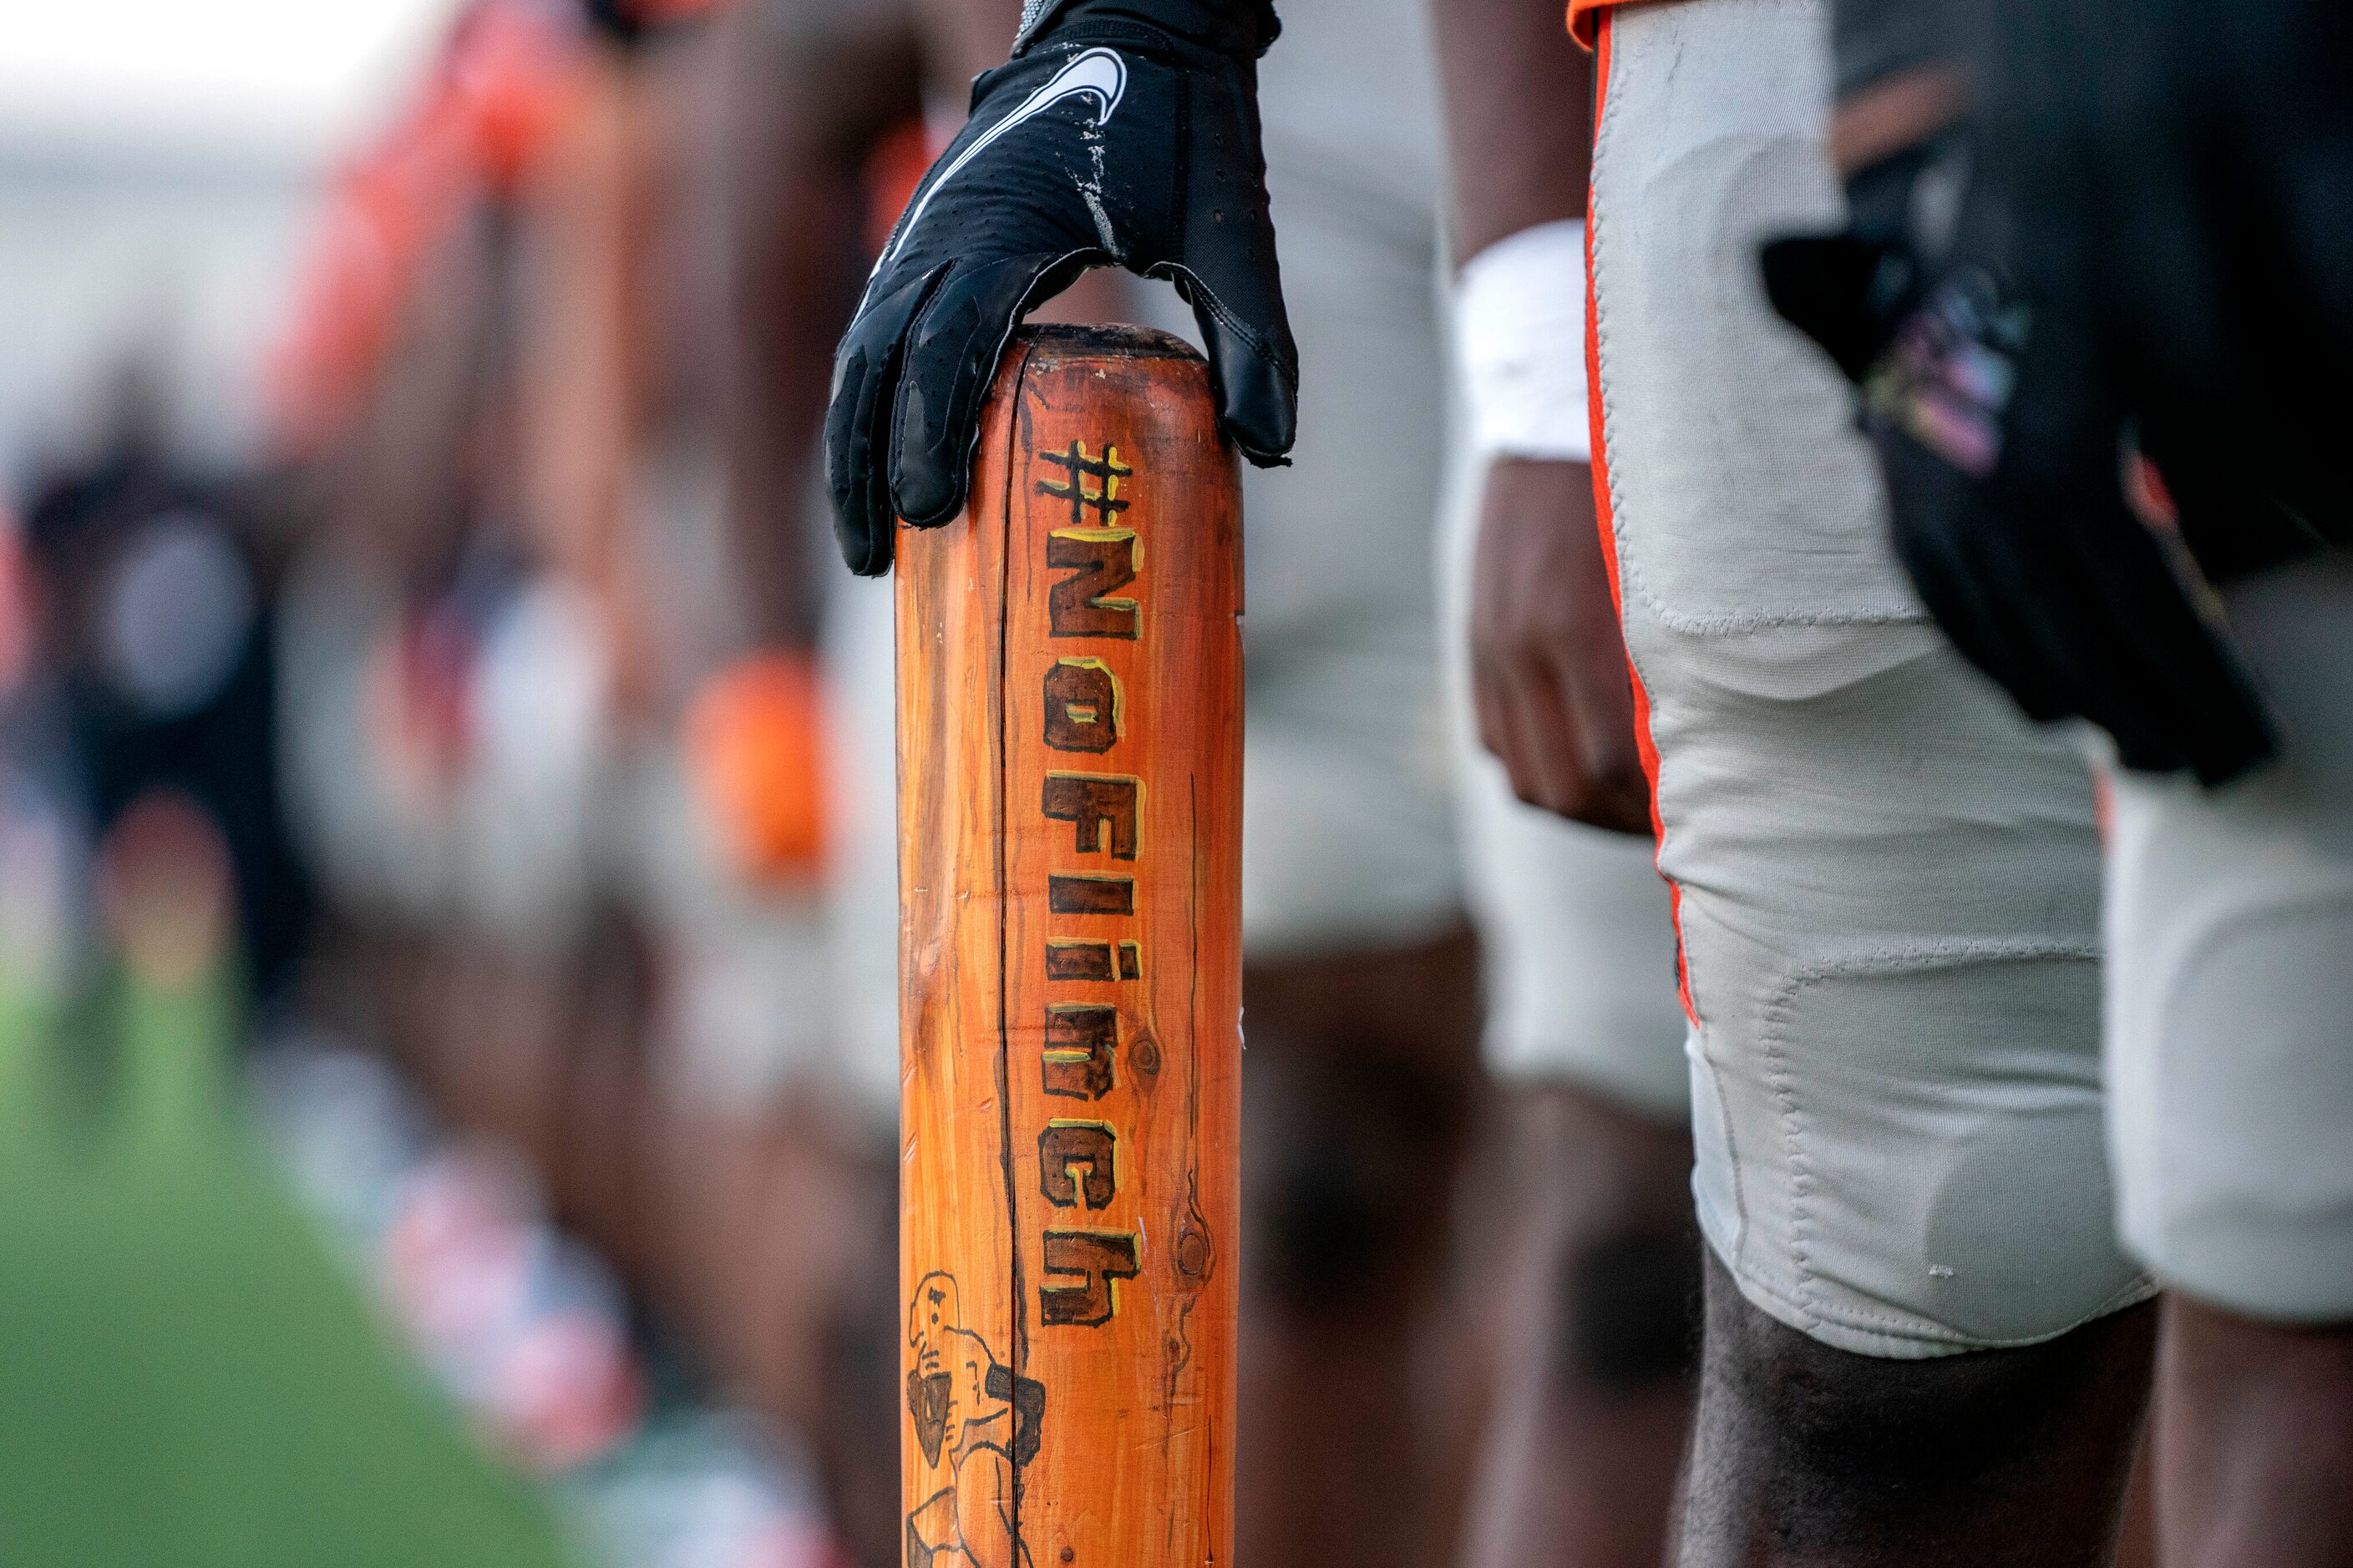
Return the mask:
[[711, 677], [687, 715], [687, 766], [736, 870], [807, 882], [826, 849], [826, 712], [816, 665], [758, 654]]

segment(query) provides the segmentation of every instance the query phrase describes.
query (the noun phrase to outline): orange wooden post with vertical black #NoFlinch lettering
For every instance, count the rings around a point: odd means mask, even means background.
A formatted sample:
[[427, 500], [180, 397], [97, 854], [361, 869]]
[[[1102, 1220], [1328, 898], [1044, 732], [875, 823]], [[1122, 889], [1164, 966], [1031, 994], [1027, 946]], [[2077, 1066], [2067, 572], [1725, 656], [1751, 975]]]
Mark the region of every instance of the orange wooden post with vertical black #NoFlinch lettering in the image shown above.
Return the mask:
[[908, 1568], [1231, 1563], [1240, 480], [1176, 339], [1014, 339], [899, 529]]

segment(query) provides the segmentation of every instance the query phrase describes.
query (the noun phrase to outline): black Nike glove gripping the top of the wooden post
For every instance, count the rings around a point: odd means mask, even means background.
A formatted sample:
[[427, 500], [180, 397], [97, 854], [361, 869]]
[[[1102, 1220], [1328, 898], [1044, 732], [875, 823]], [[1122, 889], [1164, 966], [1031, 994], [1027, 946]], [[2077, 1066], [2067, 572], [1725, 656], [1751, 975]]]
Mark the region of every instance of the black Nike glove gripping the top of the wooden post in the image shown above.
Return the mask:
[[852, 571], [889, 571], [894, 517], [955, 517], [1005, 341], [1094, 266], [1176, 284], [1226, 435], [1252, 463], [1282, 461], [1299, 350], [1259, 150], [1257, 56], [1273, 31], [1266, 0], [1031, 2], [833, 360], [826, 480]]

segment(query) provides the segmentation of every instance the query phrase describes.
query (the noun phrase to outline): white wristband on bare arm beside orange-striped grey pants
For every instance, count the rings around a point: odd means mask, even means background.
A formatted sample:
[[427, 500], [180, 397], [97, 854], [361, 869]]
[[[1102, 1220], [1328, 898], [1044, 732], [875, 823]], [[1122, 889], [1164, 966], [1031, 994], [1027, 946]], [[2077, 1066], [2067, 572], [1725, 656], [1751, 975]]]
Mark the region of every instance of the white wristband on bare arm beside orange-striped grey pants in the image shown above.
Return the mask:
[[1593, 461], [1581, 221], [1522, 228], [1466, 261], [1454, 327], [1482, 456]]

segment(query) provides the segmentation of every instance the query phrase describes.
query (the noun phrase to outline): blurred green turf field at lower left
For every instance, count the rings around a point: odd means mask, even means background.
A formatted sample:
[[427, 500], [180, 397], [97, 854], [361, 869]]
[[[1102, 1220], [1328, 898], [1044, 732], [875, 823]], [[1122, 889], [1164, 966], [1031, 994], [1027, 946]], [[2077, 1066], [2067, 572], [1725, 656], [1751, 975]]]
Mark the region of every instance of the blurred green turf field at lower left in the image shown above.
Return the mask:
[[221, 987], [0, 978], [0, 1568], [555, 1568], [231, 1112]]

